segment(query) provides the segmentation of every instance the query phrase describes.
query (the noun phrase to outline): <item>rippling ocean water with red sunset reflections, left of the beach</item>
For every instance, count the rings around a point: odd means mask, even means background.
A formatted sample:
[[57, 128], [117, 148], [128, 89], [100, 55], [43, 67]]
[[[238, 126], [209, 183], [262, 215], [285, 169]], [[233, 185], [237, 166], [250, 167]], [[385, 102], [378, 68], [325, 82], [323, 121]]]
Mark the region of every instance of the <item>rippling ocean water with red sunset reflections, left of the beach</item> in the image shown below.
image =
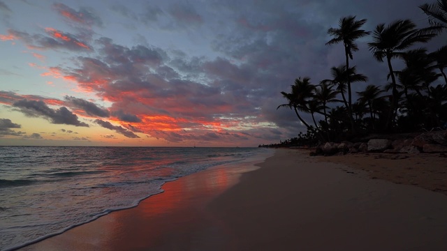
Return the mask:
[[137, 206], [175, 179], [264, 148], [0, 146], [0, 250]]

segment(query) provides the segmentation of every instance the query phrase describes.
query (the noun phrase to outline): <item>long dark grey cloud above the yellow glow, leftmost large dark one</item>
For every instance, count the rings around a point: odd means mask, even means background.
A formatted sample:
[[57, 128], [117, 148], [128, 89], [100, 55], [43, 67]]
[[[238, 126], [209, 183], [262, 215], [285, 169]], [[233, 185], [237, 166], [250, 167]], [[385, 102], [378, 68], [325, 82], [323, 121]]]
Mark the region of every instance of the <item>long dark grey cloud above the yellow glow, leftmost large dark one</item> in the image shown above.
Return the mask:
[[54, 124], [66, 124], [73, 126], [89, 127], [87, 123], [78, 120], [78, 116], [70, 112], [66, 107], [52, 109], [41, 100], [20, 100], [13, 104], [20, 112], [31, 117], [42, 117]]

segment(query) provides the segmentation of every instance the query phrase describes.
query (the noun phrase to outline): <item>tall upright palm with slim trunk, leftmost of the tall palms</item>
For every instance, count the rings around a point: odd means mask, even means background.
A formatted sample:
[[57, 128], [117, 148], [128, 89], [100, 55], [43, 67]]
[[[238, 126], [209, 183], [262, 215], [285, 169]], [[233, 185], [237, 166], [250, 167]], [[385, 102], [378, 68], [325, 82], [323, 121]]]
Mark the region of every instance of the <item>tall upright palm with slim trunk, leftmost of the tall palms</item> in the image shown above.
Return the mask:
[[[326, 45], [333, 45], [343, 42], [344, 54], [346, 56], [346, 69], [349, 69], [349, 59], [353, 59], [353, 52], [358, 51], [358, 46], [355, 40], [369, 35], [369, 31], [360, 29], [367, 20], [356, 20], [356, 16], [342, 17], [339, 20], [339, 28], [328, 29], [328, 34], [333, 36]], [[348, 110], [351, 110], [352, 94], [351, 94], [351, 81], [347, 79], [348, 85]], [[352, 113], [352, 112], [351, 112]], [[352, 115], [351, 115], [352, 116]]]

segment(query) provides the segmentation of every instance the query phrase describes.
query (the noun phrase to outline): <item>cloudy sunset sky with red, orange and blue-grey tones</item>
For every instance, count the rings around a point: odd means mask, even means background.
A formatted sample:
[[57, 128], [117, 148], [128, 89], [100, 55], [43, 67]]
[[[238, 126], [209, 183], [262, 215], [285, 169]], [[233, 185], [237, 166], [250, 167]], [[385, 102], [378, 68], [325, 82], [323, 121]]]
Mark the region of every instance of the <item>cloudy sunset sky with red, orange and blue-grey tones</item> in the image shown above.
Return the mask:
[[[277, 109], [281, 91], [344, 63], [342, 44], [325, 45], [329, 28], [348, 15], [367, 19], [367, 31], [397, 19], [422, 28], [423, 3], [0, 0], [0, 145], [279, 143], [305, 132], [291, 109]], [[354, 92], [387, 82], [371, 41], [353, 54], [369, 77]]]

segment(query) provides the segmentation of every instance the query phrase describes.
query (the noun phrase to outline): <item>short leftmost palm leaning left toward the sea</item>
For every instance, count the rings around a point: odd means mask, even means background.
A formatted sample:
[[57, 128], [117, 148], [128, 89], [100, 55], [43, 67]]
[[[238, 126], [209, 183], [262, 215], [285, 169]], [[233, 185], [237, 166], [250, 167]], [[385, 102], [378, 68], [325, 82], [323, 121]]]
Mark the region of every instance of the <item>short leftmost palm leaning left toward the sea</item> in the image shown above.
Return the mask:
[[312, 98], [315, 86], [310, 83], [309, 77], [299, 77], [298, 79], [295, 79], [295, 84], [291, 86], [291, 89], [291, 93], [281, 91], [282, 96], [288, 100], [288, 103], [279, 105], [277, 109], [279, 109], [279, 107], [293, 108], [298, 119], [300, 119], [301, 123], [309, 130], [311, 126], [302, 119], [298, 111], [309, 112], [307, 102], [309, 102], [309, 98]]

